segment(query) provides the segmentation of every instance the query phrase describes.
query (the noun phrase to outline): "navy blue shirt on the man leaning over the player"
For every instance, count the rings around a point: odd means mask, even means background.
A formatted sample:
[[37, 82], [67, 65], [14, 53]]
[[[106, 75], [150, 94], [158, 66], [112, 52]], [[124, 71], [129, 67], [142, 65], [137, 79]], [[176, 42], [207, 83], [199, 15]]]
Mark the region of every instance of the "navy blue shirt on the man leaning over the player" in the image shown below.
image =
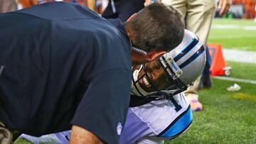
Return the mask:
[[131, 86], [119, 20], [54, 2], [0, 15], [0, 121], [30, 135], [77, 125], [118, 143]]

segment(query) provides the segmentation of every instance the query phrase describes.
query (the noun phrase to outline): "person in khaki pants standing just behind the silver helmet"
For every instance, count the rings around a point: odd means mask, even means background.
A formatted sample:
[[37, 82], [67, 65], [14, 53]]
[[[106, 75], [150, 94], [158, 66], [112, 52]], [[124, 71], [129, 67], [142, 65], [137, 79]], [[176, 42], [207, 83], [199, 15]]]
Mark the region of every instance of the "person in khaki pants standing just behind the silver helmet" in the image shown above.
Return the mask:
[[[207, 45], [207, 39], [210, 32], [210, 26], [213, 21], [216, 10], [215, 0], [161, 0], [164, 4], [174, 6], [183, 13], [186, 18], [186, 28], [193, 33], [196, 33], [204, 45]], [[218, 9], [220, 16], [228, 12], [232, 0], [220, 0]], [[207, 48], [207, 47], [205, 47]], [[210, 73], [208, 73], [210, 74]], [[210, 75], [206, 76], [206, 80], [210, 81]], [[203, 110], [203, 105], [198, 101], [198, 87], [201, 77], [198, 77], [192, 87], [186, 90], [185, 94], [191, 103], [193, 111]]]

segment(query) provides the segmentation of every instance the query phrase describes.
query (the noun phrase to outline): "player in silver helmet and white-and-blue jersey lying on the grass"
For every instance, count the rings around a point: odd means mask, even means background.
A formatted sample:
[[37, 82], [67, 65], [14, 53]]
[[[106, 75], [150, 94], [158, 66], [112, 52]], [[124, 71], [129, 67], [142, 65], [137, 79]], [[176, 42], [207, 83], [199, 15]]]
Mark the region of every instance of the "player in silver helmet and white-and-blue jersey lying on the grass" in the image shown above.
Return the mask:
[[[123, 126], [117, 126], [121, 144], [164, 143], [185, 132], [192, 112], [182, 93], [201, 74], [206, 62], [203, 44], [185, 31], [177, 48], [154, 62], [133, 67], [132, 98]], [[102, 120], [104, 121], [104, 120]], [[33, 138], [33, 142], [68, 143], [70, 132]]]

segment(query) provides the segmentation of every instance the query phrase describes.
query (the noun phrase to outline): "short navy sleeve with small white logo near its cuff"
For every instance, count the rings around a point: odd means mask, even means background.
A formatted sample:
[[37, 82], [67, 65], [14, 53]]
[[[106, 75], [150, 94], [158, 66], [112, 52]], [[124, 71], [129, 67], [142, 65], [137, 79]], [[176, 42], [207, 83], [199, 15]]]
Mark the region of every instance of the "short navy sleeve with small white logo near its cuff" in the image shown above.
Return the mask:
[[131, 72], [125, 69], [96, 74], [71, 123], [94, 133], [105, 143], [119, 143], [129, 106], [131, 77]]

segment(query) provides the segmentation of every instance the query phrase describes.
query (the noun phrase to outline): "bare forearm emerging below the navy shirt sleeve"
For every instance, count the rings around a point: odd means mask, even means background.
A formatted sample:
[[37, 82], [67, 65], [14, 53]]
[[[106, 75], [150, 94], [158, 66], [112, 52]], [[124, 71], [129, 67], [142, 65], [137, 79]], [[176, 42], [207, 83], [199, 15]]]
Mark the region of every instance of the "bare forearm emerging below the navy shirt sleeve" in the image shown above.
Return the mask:
[[70, 144], [103, 144], [96, 135], [79, 126], [72, 126]]

